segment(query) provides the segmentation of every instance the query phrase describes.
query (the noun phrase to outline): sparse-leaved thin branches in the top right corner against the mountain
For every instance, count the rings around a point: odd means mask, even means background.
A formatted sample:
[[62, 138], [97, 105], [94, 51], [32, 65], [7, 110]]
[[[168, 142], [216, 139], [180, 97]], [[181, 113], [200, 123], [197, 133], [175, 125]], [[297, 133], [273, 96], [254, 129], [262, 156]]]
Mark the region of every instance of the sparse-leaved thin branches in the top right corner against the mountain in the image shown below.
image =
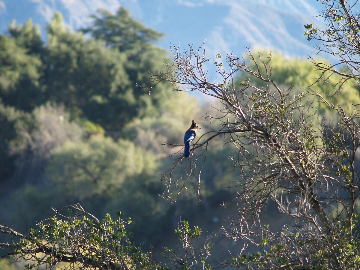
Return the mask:
[[329, 65], [312, 59], [315, 67], [323, 71], [319, 81], [326, 81], [332, 74], [339, 74], [343, 82], [360, 78], [360, 15], [358, 0], [318, 0], [324, 5], [319, 15], [325, 27], [307, 24], [305, 35], [308, 40], [316, 40], [319, 52], [329, 54], [333, 59]]

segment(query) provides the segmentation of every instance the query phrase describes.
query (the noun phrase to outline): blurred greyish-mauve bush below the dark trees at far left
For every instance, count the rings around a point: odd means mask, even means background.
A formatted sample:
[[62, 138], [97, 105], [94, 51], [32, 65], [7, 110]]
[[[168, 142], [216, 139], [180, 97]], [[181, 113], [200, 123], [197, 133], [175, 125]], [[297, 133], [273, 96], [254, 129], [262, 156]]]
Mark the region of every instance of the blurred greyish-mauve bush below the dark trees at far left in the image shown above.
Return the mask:
[[15, 183], [41, 183], [52, 150], [66, 140], [78, 142], [84, 128], [69, 121], [63, 105], [47, 103], [19, 118], [14, 125], [17, 136], [9, 142], [10, 154], [16, 157]]

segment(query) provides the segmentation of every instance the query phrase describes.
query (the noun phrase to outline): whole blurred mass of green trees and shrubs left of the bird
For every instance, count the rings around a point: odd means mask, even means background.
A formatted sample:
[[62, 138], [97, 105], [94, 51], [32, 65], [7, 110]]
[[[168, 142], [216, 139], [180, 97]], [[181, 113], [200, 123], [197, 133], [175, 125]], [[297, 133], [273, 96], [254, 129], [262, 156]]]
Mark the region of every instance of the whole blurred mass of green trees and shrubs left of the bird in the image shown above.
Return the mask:
[[46, 44], [31, 19], [0, 36], [2, 222], [26, 231], [51, 207], [81, 202], [99, 216], [121, 210], [140, 240], [160, 240], [177, 223], [159, 196], [160, 144], [181, 145], [201, 105], [163, 83], [140, 87], [170, 61], [152, 44], [161, 33], [122, 8], [93, 19], [74, 32], [55, 14]]

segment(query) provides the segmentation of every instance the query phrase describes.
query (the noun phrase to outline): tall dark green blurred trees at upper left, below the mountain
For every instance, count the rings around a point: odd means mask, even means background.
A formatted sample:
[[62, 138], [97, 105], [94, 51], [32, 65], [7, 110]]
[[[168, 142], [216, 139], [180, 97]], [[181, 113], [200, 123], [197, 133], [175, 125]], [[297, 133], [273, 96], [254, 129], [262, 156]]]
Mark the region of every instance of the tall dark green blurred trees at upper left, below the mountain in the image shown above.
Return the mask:
[[[24, 157], [28, 154], [33, 156], [36, 149], [31, 144], [38, 142], [28, 141], [29, 145], [24, 147], [24, 140], [27, 140], [24, 136], [29, 135], [28, 138], [31, 138], [34, 134], [31, 135], [30, 129], [37, 128], [36, 124], [30, 123], [32, 114], [28, 113], [39, 106], [49, 102], [58, 104], [55, 106], [63, 105], [63, 110], [69, 113], [70, 122], [76, 120], [79, 125], [90, 129], [104, 129], [107, 135], [117, 138], [121, 136], [126, 123], [130, 123], [133, 118], [158, 116], [160, 112], [157, 108], [164, 101], [170, 100], [163, 85], [158, 85], [157, 94], [151, 96], [144, 95], [143, 90], [136, 87], [136, 84], [147, 84], [148, 71], [163, 68], [162, 62], [167, 61], [165, 51], [151, 44], [161, 35], [132, 19], [126, 10], [121, 9], [119, 14], [112, 18], [104, 17], [98, 23], [107, 24], [109, 19], [109, 22], [117, 20], [121, 24], [123, 20], [126, 27], [141, 32], [139, 36], [132, 37], [131, 45], [133, 49], [137, 48], [133, 54], [141, 56], [139, 59], [130, 57], [130, 49], [120, 52], [116, 46], [104, 46], [103, 40], [96, 35], [94, 39], [86, 38], [82, 32], [72, 32], [64, 27], [60, 13], [55, 14], [49, 23], [46, 44], [41, 41], [39, 27], [34, 26], [31, 19], [24, 25], [16, 25], [13, 21], [9, 26], [10, 35], [0, 36], [1, 106], [7, 108], [1, 111], [1, 118], [4, 120], [2, 127], [7, 127], [9, 131], [1, 131], [1, 156], [4, 157], [1, 164], [6, 164], [1, 166], [6, 177], [4, 181], [9, 180], [14, 173], [20, 175], [27, 170], [26, 166], [22, 166], [28, 160]], [[125, 35], [118, 31], [121, 29], [118, 27], [113, 28], [111, 36], [114, 40]], [[15, 120], [5, 120], [12, 118], [10, 112], [13, 109], [22, 118], [17, 127], [14, 126]], [[20, 127], [20, 123], [23, 127]], [[16, 134], [10, 132], [14, 129]], [[48, 159], [49, 153], [43, 158]], [[18, 162], [16, 166], [15, 160]], [[15, 171], [15, 168], [20, 168], [21, 173]], [[27, 177], [23, 178], [26, 182]]]

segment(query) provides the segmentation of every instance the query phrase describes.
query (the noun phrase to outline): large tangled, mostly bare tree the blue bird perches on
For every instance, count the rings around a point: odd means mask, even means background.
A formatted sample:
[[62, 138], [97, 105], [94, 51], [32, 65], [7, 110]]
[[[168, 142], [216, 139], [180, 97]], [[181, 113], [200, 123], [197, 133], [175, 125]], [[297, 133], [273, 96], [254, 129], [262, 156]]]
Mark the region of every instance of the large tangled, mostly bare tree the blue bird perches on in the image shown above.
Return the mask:
[[[166, 64], [168, 72], [152, 76], [154, 83], [168, 81], [177, 91], [199, 91], [219, 100], [219, 115], [204, 118], [220, 124], [198, 138], [192, 158], [172, 155], [174, 163], [162, 175], [168, 185], [164, 195], [172, 198], [174, 188], [180, 192], [192, 176], [198, 178], [199, 193], [208, 145], [226, 135], [222, 140], [235, 146], [231, 160], [242, 176], [234, 198], [239, 211], [230, 218], [225, 235], [266, 247], [256, 256], [236, 257], [234, 265], [292, 269], [358, 265], [359, 104], [346, 114], [311, 88], [298, 93], [279, 87], [271, 79], [271, 54], [253, 55], [248, 50], [246, 59], [230, 54], [224, 63], [218, 54], [215, 64], [221, 82], [216, 83], [203, 69], [209, 60], [204, 46], [181, 51], [173, 45], [172, 53], [174, 62]], [[235, 85], [239, 73], [248, 78]], [[256, 87], [253, 78], [268, 87]], [[326, 104], [339, 121], [320, 117], [311, 109], [314, 102]], [[292, 226], [271, 231], [263, 225], [269, 202], [291, 218]]]

